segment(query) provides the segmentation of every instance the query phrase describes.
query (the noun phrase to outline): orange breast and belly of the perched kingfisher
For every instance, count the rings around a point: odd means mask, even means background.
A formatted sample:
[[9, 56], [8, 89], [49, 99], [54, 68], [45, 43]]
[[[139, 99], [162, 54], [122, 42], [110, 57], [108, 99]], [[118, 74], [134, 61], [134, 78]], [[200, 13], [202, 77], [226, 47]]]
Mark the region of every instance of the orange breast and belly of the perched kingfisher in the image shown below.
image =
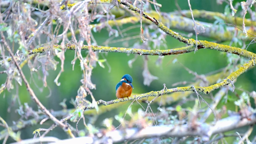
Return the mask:
[[116, 96], [117, 98], [125, 98], [125, 97], [130, 97], [132, 94], [133, 88], [130, 85], [127, 85], [125, 82], [117, 88], [117, 93]]

